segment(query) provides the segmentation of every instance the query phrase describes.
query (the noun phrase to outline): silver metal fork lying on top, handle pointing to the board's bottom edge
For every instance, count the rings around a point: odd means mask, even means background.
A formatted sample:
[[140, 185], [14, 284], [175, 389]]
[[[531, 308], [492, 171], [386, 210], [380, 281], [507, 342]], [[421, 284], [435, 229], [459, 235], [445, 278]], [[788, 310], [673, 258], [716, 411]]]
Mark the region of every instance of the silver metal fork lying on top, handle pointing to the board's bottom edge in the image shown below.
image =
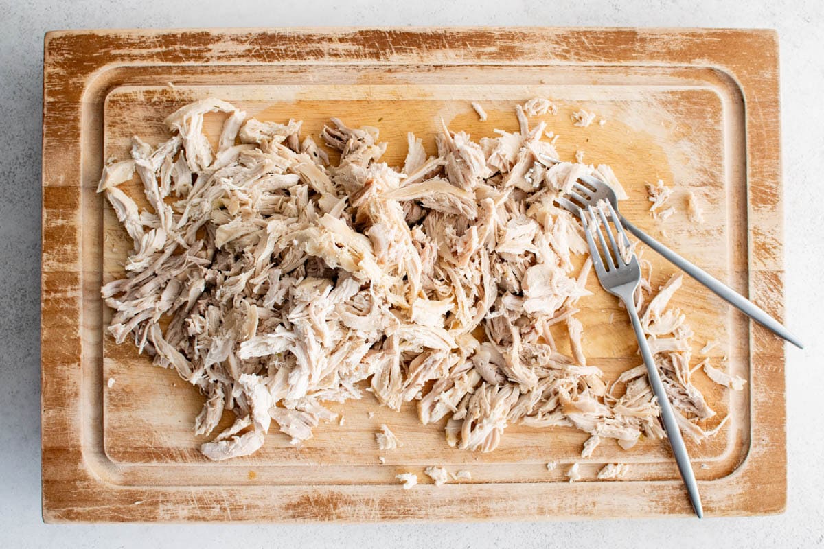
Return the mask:
[[[609, 209], [610, 219], [618, 230], [618, 238], [620, 238], [624, 244], [623, 250], [618, 245], [616, 236], [612, 234], [612, 230], [607, 223], [606, 215], [604, 214], [605, 204]], [[624, 227], [621, 226], [620, 217], [612, 205], [609, 202], [601, 202], [593, 208], [592, 205], [589, 204], [586, 211], [589, 214], [589, 219], [583, 211], [579, 211], [579, 214], [583, 222], [584, 233], [587, 235], [589, 254], [592, 256], [592, 266], [595, 268], [601, 286], [623, 301], [627, 312], [630, 314], [632, 327], [635, 330], [635, 337], [638, 338], [638, 347], [641, 351], [641, 356], [644, 357], [644, 365], [647, 366], [649, 384], [652, 385], [653, 393], [655, 393], [656, 398], [658, 398], [658, 406], [661, 407], [661, 417], [664, 422], [664, 429], [667, 430], [667, 438], [672, 447], [672, 454], [675, 455], [678, 470], [681, 472], [681, 478], [684, 479], [686, 490], [690, 494], [690, 500], [693, 509], [695, 509], [695, 514], [697, 514], [700, 519], [704, 516], [704, 510], [701, 508], [701, 499], [698, 494], [698, 485], [695, 483], [695, 474], [690, 464], [690, 456], [686, 453], [686, 446], [684, 445], [684, 440], [681, 438], [681, 429], [678, 427], [675, 412], [673, 412], [672, 405], [669, 402], [669, 398], [667, 398], [667, 393], [661, 382], [661, 376], [658, 374], [658, 368], [655, 365], [655, 361], [653, 361], [653, 355], [649, 351], [647, 337], [644, 335], [644, 328], [641, 327], [641, 320], [638, 317], [638, 310], [635, 309], [633, 296], [635, 288], [638, 287], [641, 281], [641, 266], [638, 258], [630, 247], [630, 240], [626, 237]], [[601, 221], [600, 223], [598, 222], [599, 220]], [[603, 231], [601, 230], [601, 226], [604, 227]], [[592, 235], [593, 232], [597, 233], [603, 254], [598, 249], [598, 245]], [[603, 235], [604, 232], [606, 232], [606, 236], [610, 240], [611, 247], [606, 244]]]

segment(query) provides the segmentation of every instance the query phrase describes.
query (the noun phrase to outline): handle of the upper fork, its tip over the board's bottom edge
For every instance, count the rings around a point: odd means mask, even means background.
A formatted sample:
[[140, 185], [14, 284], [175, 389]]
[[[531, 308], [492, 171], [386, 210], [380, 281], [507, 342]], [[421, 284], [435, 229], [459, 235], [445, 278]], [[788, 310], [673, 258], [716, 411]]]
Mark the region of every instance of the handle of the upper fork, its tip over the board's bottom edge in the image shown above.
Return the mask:
[[624, 301], [626, 309], [630, 312], [632, 328], [635, 330], [635, 337], [638, 338], [638, 347], [641, 351], [641, 356], [644, 357], [644, 365], [647, 366], [649, 384], [652, 385], [653, 393], [655, 393], [655, 396], [658, 398], [658, 406], [661, 407], [664, 429], [667, 430], [667, 438], [672, 447], [672, 454], [675, 455], [678, 471], [681, 472], [681, 478], [684, 479], [686, 491], [690, 494], [692, 508], [695, 509], [695, 514], [701, 519], [704, 517], [704, 509], [701, 507], [701, 497], [698, 493], [698, 484], [695, 482], [695, 473], [692, 471], [690, 455], [686, 453], [686, 445], [684, 444], [684, 439], [681, 437], [681, 428], [678, 426], [675, 412], [672, 410], [672, 404], [670, 404], [669, 398], [667, 397], [667, 391], [664, 389], [661, 375], [658, 374], [658, 368], [653, 360], [653, 354], [649, 351], [647, 337], [644, 334], [644, 328], [641, 327], [638, 311], [635, 309], [631, 294], [629, 298], [630, 299], [625, 299], [622, 297], [621, 300]]

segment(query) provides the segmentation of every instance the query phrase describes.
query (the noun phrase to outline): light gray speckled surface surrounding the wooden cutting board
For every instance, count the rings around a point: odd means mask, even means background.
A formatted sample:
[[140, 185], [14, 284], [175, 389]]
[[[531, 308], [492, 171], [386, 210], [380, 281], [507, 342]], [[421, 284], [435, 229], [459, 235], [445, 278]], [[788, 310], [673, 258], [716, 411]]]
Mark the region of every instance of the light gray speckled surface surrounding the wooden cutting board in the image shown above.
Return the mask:
[[[4, 547], [610, 547], [824, 546], [824, 3], [740, 2], [169, 2], [0, 0], [0, 538]], [[547, 2], [548, 4], [550, 2]], [[735, 2], [738, 4], [739, 2]], [[448, 4], [448, 5], [447, 5]], [[174, 7], [172, 7], [174, 6]], [[309, 8], [311, 6], [311, 8]], [[789, 328], [789, 501], [780, 516], [590, 523], [309, 526], [76, 525], [40, 519], [40, 114], [44, 31], [197, 26], [716, 26], [770, 27], [781, 37]], [[805, 255], [805, 247], [817, 249]]]

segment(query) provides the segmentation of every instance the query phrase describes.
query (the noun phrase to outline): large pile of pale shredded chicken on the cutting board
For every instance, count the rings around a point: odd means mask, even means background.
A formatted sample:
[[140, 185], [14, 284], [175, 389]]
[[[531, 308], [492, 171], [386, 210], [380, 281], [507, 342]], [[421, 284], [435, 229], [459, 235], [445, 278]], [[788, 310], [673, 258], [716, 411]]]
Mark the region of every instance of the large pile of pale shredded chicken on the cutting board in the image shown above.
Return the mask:
[[[214, 112], [225, 117], [217, 150], [203, 133]], [[110, 337], [199, 389], [194, 432], [213, 437], [201, 451], [215, 460], [252, 454], [273, 426], [301, 444], [338, 418], [324, 402], [364, 390], [393, 410], [414, 402], [459, 449], [492, 451], [516, 423], [577, 427], [585, 453], [662, 437], [645, 371], [621, 375], [618, 397], [584, 356], [574, 315], [592, 263], [578, 221], [555, 205], [584, 174], [625, 193], [608, 166], [545, 165], [542, 153], [557, 157], [545, 123], [517, 114], [519, 132], [480, 142], [442, 127], [437, 156], [410, 133], [401, 169], [380, 161], [377, 128], [331, 119], [320, 137], [340, 153], [332, 165], [300, 121], [246, 119], [218, 99], [185, 105], [166, 119], [166, 142], [134, 137], [130, 159], [101, 175], [133, 241], [101, 290]], [[119, 188], [135, 173], [137, 201]], [[696, 424], [714, 412], [690, 383], [691, 330], [666, 308], [677, 284], [650, 301], [644, 328], [681, 426], [700, 440], [714, 431]], [[225, 411], [234, 422], [214, 435]], [[398, 444], [386, 426], [376, 440]]]

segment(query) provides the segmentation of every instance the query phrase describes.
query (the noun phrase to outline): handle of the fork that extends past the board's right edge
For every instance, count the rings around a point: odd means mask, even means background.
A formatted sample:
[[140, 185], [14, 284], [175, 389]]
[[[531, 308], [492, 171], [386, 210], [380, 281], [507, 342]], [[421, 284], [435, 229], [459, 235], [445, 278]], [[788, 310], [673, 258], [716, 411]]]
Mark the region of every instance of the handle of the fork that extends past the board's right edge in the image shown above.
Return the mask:
[[673, 263], [678, 268], [681, 268], [683, 272], [686, 272], [686, 274], [695, 278], [695, 280], [699, 281], [704, 286], [707, 286], [711, 291], [714, 291], [715, 295], [718, 295], [721, 299], [726, 300], [730, 305], [733, 305], [733, 307], [740, 310], [743, 314], [746, 314], [748, 317], [761, 324], [764, 328], [778, 334], [786, 341], [792, 343], [795, 347], [798, 347], [799, 349], [804, 348], [801, 342], [798, 341], [798, 338], [794, 337], [792, 333], [789, 333], [787, 328], [784, 328], [778, 320], [772, 318], [769, 314], [766, 314], [757, 305], [752, 303], [750, 300], [747, 300], [746, 297], [737, 293], [737, 291], [734, 291], [729, 286], [724, 285], [721, 281], [716, 280], [707, 272], [690, 263], [685, 258], [682, 258], [680, 255], [673, 252], [672, 249], [669, 249], [667, 246], [658, 242], [658, 240], [653, 239], [652, 236], [634, 226], [630, 223], [630, 221], [627, 221], [625, 216], [620, 216], [620, 221], [633, 235], [638, 237], [638, 240], [644, 244], [647, 244], [650, 248], [658, 252], [658, 254], [661, 254], [664, 258], [667, 258], [670, 263]]

